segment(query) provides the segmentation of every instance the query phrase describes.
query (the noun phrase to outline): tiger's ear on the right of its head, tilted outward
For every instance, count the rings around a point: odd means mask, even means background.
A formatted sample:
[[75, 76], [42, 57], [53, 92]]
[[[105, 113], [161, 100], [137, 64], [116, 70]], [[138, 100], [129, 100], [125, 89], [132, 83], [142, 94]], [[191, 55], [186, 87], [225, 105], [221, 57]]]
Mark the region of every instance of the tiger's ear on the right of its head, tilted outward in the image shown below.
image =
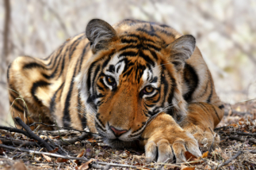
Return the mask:
[[185, 60], [193, 54], [196, 39], [191, 35], [181, 36], [167, 47], [170, 48], [170, 62], [174, 64], [177, 71], [180, 71], [185, 66]]

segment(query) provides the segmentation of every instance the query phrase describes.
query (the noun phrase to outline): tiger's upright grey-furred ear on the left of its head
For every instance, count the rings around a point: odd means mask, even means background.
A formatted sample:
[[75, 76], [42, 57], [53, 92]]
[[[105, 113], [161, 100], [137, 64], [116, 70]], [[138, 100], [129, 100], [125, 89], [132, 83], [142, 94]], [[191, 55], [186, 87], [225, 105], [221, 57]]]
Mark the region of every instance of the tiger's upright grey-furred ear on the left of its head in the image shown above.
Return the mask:
[[95, 54], [108, 47], [109, 42], [117, 36], [117, 32], [109, 23], [94, 19], [86, 26], [86, 36], [90, 40], [90, 47]]

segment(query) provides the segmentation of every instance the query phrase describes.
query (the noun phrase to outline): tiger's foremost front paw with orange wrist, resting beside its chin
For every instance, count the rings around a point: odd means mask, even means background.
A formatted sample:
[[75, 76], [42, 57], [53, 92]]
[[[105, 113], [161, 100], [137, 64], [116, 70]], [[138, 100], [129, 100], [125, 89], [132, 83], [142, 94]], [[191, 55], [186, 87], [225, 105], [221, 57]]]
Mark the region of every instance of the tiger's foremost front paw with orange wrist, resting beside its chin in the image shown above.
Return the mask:
[[159, 114], [143, 131], [147, 161], [185, 162], [185, 151], [201, 157], [197, 140], [189, 132], [181, 129], [167, 114]]

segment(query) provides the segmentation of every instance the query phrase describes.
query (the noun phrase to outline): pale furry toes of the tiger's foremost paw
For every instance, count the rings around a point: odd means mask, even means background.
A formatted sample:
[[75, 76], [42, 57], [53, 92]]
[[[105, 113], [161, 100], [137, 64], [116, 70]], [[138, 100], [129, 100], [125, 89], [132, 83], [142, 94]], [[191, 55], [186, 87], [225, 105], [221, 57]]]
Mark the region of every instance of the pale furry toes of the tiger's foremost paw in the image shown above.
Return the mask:
[[179, 130], [178, 134], [157, 133], [145, 145], [146, 158], [149, 162], [172, 162], [174, 157], [177, 163], [185, 162], [186, 151], [196, 157], [201, 157], [197, 140], [184, 130]]

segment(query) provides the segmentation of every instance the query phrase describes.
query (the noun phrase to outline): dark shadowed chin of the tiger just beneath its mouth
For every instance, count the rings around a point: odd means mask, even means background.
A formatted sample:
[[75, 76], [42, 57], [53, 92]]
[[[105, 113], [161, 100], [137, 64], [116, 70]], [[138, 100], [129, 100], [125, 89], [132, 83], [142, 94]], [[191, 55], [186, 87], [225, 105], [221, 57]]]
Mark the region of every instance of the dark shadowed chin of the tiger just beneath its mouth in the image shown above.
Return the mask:
[[115, 138], [115, 139], [103, 138], [103, 141], [107, 145], [116, 149], [124, 149], [124, 148], [138, 149], [139, 148], [139, 139], [136, 139], [134, 141], [121, 141], [118, 138]]

